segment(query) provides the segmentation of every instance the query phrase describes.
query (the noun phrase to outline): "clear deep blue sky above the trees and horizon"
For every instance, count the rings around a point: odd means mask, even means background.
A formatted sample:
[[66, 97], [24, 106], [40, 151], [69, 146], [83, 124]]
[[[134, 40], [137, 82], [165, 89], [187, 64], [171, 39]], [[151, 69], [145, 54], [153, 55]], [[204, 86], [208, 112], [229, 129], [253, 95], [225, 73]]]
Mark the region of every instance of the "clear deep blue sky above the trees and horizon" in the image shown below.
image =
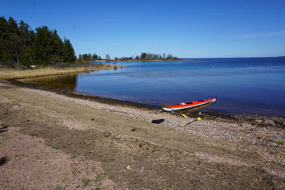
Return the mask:
[[56, 29], [77, 55], [285, 56], [284, 0], [0, 0], [0, 16]]

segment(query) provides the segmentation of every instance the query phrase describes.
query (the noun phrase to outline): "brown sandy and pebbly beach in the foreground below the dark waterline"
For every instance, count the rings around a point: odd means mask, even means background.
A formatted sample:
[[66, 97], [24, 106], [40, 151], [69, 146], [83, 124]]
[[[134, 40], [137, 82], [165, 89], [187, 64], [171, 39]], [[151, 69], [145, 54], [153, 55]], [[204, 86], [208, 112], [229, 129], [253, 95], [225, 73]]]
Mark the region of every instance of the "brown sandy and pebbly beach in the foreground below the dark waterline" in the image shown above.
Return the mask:
[[15, 80], [0, 104], [2, 189], [285, 188], [282, 117], [185, 118]]

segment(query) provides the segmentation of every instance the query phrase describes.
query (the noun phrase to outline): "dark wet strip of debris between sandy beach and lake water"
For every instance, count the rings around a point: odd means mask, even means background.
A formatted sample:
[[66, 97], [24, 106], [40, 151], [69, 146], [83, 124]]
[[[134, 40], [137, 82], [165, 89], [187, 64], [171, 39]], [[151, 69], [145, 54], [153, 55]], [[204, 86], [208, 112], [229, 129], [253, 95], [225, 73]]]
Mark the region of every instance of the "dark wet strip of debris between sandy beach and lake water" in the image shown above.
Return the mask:
[[[19, 88], [30, 88], [34, 90], [44, 90], [46, 92], [56, 93], [58, 95], [64, 95], [66, 97], [76, 98], [79, 100], [88, 100], [92, 102], [103, 103], [106, 105], [120, 106], [120, 107], [130, 107], [134, 109], [139, 109], [142, 111], [153, 112], [155, 114], [162, 113], [165, 115], [180, 115], [181, 112], [164, 112], [160, 106], [147, 105], [139, 102], [130, 102], [124, 100], [116, 100], [109, 97], [100, 97], [96, 95], [89, 95], [87, 93], [78, 93], [71, 90], [60, 90], [55, 88], [46, 88], [41, 85], [33, 83], [24, 83], [17, 79], [2, 80], [2, 83], [8, 83], [10, 85], [18, 86]], [[248, 125], [259, 125], [260, 127], [281, 127], [285, 126], [285, 117], [276, 115], [264, 115], [260, 113], [252, 113], [251, 115], [244, 112], [237, 112], [234, 114], [227, 112], [217, 112], [217, 111], [203, 111], [197, 107], [194, 110], [188, 110], [183, 112], [183, 114], [188, 117], [197, 118], [203, 117], [204, 120], [221, 120], [233, 123], [246, 123]]]

